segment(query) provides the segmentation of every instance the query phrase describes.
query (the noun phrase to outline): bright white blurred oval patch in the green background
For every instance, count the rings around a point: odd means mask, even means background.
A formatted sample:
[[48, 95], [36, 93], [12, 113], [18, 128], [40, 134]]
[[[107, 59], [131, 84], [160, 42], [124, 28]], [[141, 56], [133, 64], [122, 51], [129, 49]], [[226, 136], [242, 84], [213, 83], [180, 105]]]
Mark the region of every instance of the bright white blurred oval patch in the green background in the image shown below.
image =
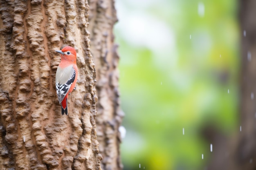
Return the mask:
[[174, 48], [174, 33], [165, 22], [141, 12], [120, 16], [116, 29], [134, 46], [147, 47], [153, 51]]

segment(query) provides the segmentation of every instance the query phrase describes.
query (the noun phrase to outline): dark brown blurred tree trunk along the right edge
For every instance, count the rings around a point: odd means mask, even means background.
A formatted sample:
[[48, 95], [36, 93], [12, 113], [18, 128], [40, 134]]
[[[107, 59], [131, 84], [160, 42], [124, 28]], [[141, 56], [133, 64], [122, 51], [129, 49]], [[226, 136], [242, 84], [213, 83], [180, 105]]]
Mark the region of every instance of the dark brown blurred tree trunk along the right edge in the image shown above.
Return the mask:
[[240, 1], [241, 29], [241, 106], [243, 130], [236, 149], [237, 169], [256, 169], [256, 1]]

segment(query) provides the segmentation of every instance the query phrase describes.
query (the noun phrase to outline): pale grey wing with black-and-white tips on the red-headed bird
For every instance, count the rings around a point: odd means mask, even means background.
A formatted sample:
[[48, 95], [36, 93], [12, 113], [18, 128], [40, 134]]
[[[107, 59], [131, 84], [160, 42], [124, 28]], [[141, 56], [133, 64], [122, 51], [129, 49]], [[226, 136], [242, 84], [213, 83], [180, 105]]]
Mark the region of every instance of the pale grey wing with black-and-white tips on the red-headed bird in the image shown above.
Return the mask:
[[67, 95], [75, 77], [76, 71], [72, 65], [66, 68], [61, 68], [58, 66], [56, 71], [56, 92], [58, 96], [58, 102], [60, 104], [64, 97]]

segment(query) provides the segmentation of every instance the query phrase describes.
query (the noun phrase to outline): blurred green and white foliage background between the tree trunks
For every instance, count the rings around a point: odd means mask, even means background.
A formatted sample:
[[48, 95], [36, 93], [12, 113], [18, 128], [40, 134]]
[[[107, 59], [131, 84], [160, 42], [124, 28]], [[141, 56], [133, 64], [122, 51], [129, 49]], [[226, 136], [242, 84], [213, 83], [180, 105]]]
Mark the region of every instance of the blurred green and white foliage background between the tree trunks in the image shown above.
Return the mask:
[[[239, 124], [234, 0], [116, 0], [124, 170], [204, 170]], [[229, 154], [228, 152], [226, 153]]]

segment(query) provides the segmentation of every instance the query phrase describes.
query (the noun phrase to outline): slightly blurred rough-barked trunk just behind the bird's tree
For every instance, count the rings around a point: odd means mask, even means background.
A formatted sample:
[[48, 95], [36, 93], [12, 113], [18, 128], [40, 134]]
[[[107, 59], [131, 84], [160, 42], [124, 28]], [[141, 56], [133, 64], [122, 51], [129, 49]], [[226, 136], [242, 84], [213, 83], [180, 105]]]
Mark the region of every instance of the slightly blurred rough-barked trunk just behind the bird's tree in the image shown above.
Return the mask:
[[114, 0], [88, 0], [91, 51], [97, 72], [97, 139], [104, 170], [121, 170], [118, 128], [124, 113], [120, 109], [117, 68], [119, 56], [114, 44], [113, 25], [117, 22]]

